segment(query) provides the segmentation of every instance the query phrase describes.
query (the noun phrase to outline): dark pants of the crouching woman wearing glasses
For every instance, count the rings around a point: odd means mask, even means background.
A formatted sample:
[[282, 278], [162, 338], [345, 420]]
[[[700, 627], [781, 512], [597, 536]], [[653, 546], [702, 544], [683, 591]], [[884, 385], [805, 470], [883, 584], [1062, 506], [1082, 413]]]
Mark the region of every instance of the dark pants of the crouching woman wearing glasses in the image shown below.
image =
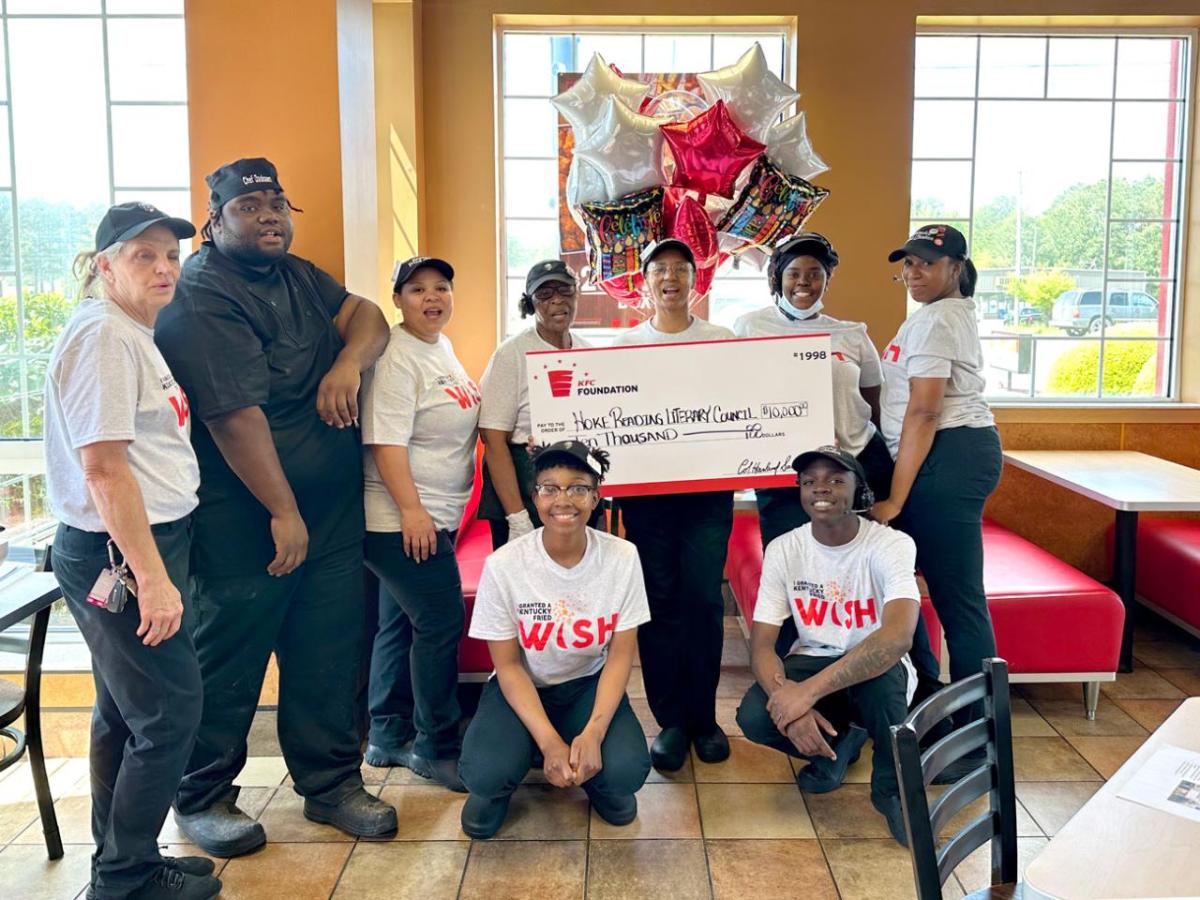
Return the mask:
[[[568, 745], [592, 718], [600, 676], [576, 678], [550, 688], [538, 696], [546, 718]], [[512, 712], [496, 678], [484, 685], [479, 709], [462, 742], [458, 774], [476, 797], [488, 800], [510, 796], [529, 772], [536, 745], [524, 722]], [[604, 768], [583, 784], [589, 797], [628, 797], [636, 793], [650, 772], [650, 755], [629, 698], [622, 697], [608, 732], [600, 744]]]

